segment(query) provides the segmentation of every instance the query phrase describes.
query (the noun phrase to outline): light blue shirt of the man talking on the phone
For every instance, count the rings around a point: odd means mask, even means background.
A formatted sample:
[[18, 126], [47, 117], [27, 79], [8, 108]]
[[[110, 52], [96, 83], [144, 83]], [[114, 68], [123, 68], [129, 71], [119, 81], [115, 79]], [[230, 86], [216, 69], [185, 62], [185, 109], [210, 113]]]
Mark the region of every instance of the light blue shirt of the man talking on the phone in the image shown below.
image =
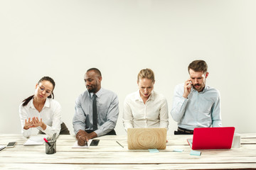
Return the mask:
[[184, 84], [178, 84], [174, 90], [171, 116], [178, 127], [194, 128], [221, 127], [220, 93], [217, 89], [205, 86], [199, 92], [191, 89], [188, 98], [183, 98]]

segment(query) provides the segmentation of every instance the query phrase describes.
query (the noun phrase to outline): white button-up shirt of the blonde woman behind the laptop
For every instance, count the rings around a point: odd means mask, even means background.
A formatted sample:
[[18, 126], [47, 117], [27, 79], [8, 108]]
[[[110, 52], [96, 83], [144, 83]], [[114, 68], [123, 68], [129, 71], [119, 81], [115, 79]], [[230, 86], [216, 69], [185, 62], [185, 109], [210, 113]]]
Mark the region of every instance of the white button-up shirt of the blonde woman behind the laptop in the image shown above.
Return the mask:
[[151, 91], [146, 103], [139, 90], [129, 94], [124, 100], [124, 129], [127, 128], [168, 128], [168, 105], [166, 98]]

